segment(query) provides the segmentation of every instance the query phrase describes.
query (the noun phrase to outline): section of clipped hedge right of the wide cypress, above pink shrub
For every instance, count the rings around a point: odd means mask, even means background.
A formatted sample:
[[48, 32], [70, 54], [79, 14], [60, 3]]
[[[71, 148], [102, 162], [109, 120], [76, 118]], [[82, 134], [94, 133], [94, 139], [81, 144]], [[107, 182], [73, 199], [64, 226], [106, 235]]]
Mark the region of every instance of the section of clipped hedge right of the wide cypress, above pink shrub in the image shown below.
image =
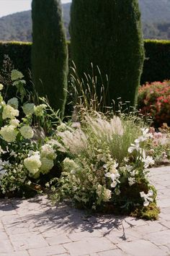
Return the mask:
[[170, 79], [170, 41], [145, 40], [146, 60], [140, 84]]

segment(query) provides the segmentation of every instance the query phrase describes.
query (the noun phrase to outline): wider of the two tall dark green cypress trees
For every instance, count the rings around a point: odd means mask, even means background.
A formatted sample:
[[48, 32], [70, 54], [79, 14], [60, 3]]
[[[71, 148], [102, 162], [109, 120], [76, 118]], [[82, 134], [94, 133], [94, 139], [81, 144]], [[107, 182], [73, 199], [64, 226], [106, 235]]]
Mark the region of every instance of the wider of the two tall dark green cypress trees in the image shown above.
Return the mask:
[[134, 106], [144, 59], [138, 0], [72, 0], [70, 33], [79, 76], [98, 66], [108, 75], [107, 105], [121, 97]]

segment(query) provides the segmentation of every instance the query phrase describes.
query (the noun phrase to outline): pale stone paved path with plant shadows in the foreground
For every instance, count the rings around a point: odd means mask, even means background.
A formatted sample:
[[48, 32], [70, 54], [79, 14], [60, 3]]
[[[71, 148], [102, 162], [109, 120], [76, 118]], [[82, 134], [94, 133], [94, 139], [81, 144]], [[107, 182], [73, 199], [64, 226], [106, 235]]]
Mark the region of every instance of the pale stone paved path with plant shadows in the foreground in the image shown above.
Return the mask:
[[151, 169], [158, 189], [158, 221], [86, 216], [45, 197], [0, 200], [1, 256], [170, 255], [170, 166]]

